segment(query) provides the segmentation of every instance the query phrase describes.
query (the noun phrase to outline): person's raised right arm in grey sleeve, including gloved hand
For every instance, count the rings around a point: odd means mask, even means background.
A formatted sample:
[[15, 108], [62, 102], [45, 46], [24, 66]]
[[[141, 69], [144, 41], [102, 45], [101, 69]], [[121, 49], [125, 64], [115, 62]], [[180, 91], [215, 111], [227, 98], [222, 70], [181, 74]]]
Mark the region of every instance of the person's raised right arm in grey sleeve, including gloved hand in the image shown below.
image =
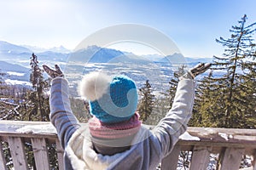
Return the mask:
[[207, 71], [210, 66], [211, 64], [196, 65], [180, 78], [172, 109], [154, 128], [154, 135], [160, 141], [162, 156], [166, 156], [172, 151], [178, 137], [186, 131], [194, 105], [194, 77]]

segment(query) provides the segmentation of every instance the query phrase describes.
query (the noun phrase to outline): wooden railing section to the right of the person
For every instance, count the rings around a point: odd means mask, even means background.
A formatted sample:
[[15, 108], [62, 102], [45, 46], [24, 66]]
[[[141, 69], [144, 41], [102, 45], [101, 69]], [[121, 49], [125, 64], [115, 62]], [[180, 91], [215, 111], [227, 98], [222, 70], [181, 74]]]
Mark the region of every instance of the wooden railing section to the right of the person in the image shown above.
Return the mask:
[[213, 155], [218, 158], [216, 169], [236, 170], [247, 155], [252, 161], [247, 169], [256, 170], [256, 129], [189, 127], [188, 133], [191, 137], [177, 142], [172, 153], [162, 160], [161, 169], [176, 170], [180, 151], [191, 151], [189, 169], [207, 169]]

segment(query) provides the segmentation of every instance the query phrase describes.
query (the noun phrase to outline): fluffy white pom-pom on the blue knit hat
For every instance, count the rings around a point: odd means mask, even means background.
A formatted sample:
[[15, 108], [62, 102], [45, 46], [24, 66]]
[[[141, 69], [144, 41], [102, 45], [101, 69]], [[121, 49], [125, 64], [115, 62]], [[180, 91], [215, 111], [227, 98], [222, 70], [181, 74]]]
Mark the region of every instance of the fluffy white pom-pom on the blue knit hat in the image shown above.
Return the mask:
[[112, 77], [102, 72], [91, 72], [84, 75], [79, 85], [79, 94], [90, 101], [100, 99], [103, 94], [107, 93], [111, 81]]

